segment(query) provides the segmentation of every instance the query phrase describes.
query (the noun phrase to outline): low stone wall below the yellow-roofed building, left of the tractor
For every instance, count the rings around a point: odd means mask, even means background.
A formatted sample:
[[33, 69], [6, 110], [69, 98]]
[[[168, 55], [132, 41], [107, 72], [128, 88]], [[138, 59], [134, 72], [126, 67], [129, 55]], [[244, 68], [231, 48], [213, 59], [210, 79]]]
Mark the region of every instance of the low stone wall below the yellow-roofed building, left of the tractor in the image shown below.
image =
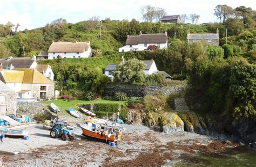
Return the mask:
[[28, 115], [33, 118], [37, 114], [45, 112], [45, 105], [36, 102], [18, 102], [17, 115]]

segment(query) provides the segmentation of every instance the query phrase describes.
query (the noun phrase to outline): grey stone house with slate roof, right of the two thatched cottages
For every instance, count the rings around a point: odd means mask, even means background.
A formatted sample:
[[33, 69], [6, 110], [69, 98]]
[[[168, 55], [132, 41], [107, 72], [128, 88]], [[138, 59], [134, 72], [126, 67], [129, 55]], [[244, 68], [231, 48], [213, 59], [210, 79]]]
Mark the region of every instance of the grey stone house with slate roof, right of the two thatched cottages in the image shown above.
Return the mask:
[[207, 33], [207, 34], [191, 34], [190, 32], [187, 33], [187, 42], [198, 42], [198, 41], [206, 41], [214, 46], [219, 46], [219, 30], [217, 28], [217, 32]]

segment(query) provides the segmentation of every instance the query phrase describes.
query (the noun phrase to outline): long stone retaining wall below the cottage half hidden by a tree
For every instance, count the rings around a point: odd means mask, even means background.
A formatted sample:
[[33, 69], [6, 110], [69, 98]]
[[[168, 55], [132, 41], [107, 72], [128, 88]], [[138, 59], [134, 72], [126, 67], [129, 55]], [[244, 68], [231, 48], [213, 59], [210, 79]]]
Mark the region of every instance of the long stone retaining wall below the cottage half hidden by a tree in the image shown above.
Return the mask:
[[103, 96], [113, 97], [116, 92], [125, 92], [129, 97], [144, 97], [146, 95], [154, 95], [159, 91], [170, 95], [172, 92], [179, 92], [184, 89], [184, 85], [157, 86], [157, 85], [124, 85], [111, 84], [105, 88]]

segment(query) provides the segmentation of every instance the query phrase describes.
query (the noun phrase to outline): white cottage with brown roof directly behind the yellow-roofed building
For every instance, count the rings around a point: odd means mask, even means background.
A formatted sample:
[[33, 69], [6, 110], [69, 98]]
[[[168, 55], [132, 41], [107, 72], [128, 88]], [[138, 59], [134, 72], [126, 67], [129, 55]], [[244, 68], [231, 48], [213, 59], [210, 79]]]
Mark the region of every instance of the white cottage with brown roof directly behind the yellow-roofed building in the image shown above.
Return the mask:
[[0, 59], [0, 66], [3, 69], [30, 68], [41, 72], [45, 77], [53, 81], [54, 74], [51, 66], [48, 64], [37, 64], [36, 56], [33, 57], [8, 57], [8, 59]]

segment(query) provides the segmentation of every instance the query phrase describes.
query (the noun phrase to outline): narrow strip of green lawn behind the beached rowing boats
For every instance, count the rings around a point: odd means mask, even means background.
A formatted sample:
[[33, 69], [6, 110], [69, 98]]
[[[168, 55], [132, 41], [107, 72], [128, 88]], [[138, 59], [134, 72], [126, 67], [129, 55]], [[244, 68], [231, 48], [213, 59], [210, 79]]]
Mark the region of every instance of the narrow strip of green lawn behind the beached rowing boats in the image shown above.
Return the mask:
[[60, 110], [68, 110], [69, 107], [76, 108], [76, 104], [82, 103], [82, 104], [94, 104], [94, 103], [117, 103], [117, 104], [125, 104], [127, 101], [113, 101], [113, 100], [92, 100], [92, 101], [86, 101], [86, 100], [50, 100], [50, 101], [41, 101], [40, 103], [44, 104], [51, 104], [54, 103], [56, 106], [59, 107]]

